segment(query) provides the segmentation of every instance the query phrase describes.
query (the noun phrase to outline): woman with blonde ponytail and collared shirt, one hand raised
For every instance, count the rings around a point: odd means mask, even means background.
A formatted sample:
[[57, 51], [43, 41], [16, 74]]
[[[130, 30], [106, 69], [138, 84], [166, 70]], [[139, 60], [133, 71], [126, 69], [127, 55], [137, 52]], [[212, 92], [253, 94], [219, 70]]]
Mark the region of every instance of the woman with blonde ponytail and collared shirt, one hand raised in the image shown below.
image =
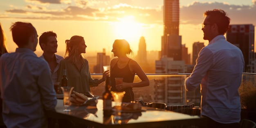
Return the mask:
[[64, 59], [60, 62], [58, 81], [61, 82], [63, 69], [66, 70], [67, 86], [74, 87], [74, 91], [92, 97], [90, 87], [98, 86], [106, 80], [108, 72], [103, 73], [102, 79], [92, 79], [88, 61], [81, 54], [85, 53], [86, 45], [82, 36], [72, 36], [65, 41], [67, 47]]

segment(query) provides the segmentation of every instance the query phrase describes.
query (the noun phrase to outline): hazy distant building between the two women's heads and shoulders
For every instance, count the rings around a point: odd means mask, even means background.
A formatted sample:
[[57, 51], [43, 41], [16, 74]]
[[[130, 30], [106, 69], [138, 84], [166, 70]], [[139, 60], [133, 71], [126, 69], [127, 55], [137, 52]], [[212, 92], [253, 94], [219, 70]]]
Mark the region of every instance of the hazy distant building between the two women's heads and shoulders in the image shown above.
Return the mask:
[[110, 65], [110, 57], [106, 56], [106, 50], [97, 53], [97, 65], [93, 67], [94, 73], [103, 73], [103, 66]]

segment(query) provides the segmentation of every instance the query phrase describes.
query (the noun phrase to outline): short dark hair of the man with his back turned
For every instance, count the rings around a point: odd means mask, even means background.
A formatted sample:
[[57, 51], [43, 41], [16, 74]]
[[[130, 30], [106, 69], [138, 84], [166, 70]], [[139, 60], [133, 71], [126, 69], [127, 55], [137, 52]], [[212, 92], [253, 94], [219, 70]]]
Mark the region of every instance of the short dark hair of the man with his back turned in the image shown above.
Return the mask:
[[29, 43], [29, 38], [34, 35], [36, 29], [29, 22], [15, 22], [10, 27], [13, 41], [22, 47]]

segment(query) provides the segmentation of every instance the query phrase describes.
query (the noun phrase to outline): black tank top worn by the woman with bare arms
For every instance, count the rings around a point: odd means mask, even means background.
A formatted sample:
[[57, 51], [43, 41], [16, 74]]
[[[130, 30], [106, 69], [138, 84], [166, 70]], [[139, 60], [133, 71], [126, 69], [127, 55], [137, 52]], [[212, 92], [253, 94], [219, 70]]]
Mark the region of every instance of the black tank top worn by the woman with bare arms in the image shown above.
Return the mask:
[[[122, 77], [123, 82], [133, 83], [135, 73], [132, 74], [132, 72], [130, 71], [130, 68], [129, 68], [129, 65], [128, 65], [130, 60], [128, 61], [127, 65], [124, 68], [119, 68], [117, 66], [117, 63], [116, 63], [114, 65], [114, 67], [111, 69], [110, 78], [111, 78], [111, 86], [112, 86], [111, 90], [112, 91], [118, 91], [117, 88], [116, 88], [116, 82], [115, 82], [116, 77]], [[119, 92], [122, 92], [122, 91], [126, 92], [124, 94], [123, 102], [134, 101], [134, 92], [132, 91], [132, 88], [125, 88], [123, 90], [120, 90]]]

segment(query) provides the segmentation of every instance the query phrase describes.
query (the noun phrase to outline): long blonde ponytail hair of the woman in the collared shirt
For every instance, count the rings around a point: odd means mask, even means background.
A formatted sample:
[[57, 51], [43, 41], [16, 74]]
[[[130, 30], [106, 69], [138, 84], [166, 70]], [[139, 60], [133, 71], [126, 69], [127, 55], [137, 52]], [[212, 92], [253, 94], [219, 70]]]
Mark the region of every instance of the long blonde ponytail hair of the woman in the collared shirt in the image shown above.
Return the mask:
[[66, 40], [67, 44], [66, 52], [64, 58], [67, 58], [71, 63], [77, 63], [78, 61], [83, 61], [83, 56], [78, 52], [79, 43], [83, 40], [82, 36], [72, 36], [70, 40]]

